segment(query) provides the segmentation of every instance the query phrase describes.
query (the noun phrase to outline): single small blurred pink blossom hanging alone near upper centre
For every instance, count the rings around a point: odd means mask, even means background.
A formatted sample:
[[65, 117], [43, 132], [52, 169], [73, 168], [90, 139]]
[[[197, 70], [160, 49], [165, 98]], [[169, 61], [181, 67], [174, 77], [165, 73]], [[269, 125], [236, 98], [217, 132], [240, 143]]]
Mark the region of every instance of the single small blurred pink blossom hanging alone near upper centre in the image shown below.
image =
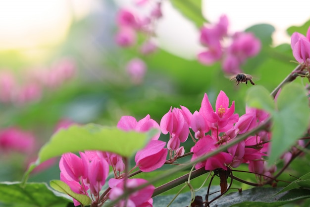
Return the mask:
[[147, 71], [147, 66], [141, 59], [134, 58], [128, 62], [126, 71], [134, 84], [140, 84]]

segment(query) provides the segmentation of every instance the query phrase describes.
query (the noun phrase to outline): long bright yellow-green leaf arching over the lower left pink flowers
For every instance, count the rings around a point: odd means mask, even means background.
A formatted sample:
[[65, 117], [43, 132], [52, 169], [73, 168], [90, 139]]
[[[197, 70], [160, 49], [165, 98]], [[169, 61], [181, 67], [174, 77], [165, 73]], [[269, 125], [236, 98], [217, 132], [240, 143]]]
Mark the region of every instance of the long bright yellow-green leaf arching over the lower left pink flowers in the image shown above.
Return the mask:
[[130, 157], [143, 148], [156, 131], [154, 129], [148, 133], [125, 132], [95, 124], [71, 126], [60, 130], [41, 148], [37, 161], [30, 165], [25, 173], [23, 183], [26, 182], [29, 173], [40, 163], [66, 152], [101, 150]]

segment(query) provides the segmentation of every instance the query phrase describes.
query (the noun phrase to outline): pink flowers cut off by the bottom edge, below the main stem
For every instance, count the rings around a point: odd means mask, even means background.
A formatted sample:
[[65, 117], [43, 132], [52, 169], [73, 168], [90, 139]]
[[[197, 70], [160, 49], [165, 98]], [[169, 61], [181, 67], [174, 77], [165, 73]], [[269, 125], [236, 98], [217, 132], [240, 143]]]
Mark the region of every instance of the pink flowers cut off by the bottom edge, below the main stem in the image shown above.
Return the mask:
[[[127, 179], [126, 180], [126, 189], [130, 192], [130, 189], [138, 187], [147, 183], [148, 181], [141, 178]], [[109, 187], [111, 191], [109, 193], [110, 200], [116, 200], [119, 196], [124, 193], [124, 180], [109, 180]], [[154, 193], [155, 187], [153, 185], [149, 185], [139, 191], [136, 191], [133, 194], [130, 194], [127, 201], [121, 200], [116, 207], [124, 207], [125, 203], [127, 207], [149, 207], [153, 206], [152, 195]]]

